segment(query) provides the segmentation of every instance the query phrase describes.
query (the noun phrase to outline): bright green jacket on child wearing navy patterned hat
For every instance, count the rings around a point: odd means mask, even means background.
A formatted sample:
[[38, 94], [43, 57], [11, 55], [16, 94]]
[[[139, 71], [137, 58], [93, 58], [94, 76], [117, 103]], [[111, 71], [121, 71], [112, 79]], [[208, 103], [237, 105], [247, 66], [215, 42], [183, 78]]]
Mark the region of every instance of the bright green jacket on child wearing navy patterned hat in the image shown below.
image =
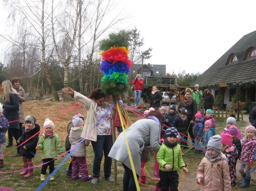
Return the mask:
[[[166, 172], [177, 171], [178, 168], [185, 167], [179, 144], [177, 144], [177, 146], [173, 148], [170, 148], [170, 147], [167, 147], [164, 143], [162, 143], [160, 150], [156, 155], [156, 158], [157, 158], [157, 162], [159, 163], [159, 169], [161, 171], [166, 171]], [[169, 164], [172, 167], [172, 169], [167, 170], [166, 168], [164, 168], [165, 164]]]

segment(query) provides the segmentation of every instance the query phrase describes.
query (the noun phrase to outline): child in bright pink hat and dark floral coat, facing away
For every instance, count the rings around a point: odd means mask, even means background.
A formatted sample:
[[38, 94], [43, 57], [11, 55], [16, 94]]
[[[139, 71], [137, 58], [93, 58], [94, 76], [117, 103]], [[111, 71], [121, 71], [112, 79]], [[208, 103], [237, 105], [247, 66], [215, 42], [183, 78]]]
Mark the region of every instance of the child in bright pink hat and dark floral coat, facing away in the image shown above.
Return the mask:
[[228, 133], [221, 133], [221, 152], [225, 154], [229, 167], [229, 174], [231, 179], [231, 187], [237, 183], [237, 172], [236, 172], [236, 158], [238, 155], [237, 148], [232, 144], [232, 135]]

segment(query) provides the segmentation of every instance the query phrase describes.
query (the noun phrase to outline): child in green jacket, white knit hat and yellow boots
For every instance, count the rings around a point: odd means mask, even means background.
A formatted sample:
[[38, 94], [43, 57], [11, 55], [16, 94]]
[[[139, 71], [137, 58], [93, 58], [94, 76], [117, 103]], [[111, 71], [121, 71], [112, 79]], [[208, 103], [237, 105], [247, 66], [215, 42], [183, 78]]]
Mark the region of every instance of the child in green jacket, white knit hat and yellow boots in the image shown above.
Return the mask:
[[[44, 122], [45, 132], [43, 133], [39, 144], [36, 146], [37, 150], [42, 150], [42, 161], [46, 163], [41, 168], [41, 181], [45, 181], [45, 174], [47, 167], [49, 166], [49, 174], [54, 171], [54, 158], [57, 158], [57, 153], [62, 154], [64, 152], [59, 136], [54, 133], [54, 123], [50, 119], [46, 119]], [[54, 180], [52, 176], [50, 181]]]

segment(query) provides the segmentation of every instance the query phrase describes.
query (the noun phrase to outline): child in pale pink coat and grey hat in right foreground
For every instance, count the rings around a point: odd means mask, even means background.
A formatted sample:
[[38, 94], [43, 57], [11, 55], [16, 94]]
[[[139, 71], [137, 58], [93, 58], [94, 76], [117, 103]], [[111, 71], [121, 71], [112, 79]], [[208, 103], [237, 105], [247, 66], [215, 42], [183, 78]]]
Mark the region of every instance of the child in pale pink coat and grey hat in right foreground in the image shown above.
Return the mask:
[[229, 167], [225, 155], [221, 153], [221, 140], [220, 135], [210, 138], [205, 157], [197, 168], [196, 178], [201, 191], [231, 190]]

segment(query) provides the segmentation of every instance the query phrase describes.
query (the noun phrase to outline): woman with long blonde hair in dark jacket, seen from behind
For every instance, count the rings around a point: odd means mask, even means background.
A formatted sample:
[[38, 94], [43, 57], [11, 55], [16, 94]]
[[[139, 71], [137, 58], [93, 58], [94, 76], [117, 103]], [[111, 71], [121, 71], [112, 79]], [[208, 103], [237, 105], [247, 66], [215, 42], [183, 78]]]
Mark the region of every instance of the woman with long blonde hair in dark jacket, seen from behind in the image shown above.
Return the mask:
[[[9, 122], [8, 128], [8, 145], [6, 147], [13, 146], [13, 137], [16, 140], [19, 138], [19, 95], [13, 88], [12, 83], [9, 80], [2, 82], [3, 88], [3, 115]], [[18, 146], [18, 145], [17, 145]], [[14, 157], [20, 156], [19, 148]]]

